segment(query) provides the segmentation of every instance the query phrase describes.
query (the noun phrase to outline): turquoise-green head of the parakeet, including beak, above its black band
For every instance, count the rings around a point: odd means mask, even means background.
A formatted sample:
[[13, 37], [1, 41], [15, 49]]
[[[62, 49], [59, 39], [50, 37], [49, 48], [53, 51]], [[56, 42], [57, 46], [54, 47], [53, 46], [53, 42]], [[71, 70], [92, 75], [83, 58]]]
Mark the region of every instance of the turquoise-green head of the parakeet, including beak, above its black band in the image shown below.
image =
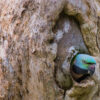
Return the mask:
[[89, 56], [87, 54], [78, 54], [75, 57], [74, 65], [81, 70], [84, 70], [83, 72], [92, 75], [95, 71], [96, 61], [92, 56]]

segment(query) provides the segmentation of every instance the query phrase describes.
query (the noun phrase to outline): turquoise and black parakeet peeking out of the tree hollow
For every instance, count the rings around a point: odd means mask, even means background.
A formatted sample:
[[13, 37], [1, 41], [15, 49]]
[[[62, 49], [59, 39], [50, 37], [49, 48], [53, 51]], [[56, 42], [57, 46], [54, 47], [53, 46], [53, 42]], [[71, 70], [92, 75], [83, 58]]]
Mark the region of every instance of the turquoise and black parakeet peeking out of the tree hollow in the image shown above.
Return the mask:
[[71, 75], [77, 81], [81, 82], [95, 72], [96, 60], [88, 54], [78, 54], [71, 65]]

